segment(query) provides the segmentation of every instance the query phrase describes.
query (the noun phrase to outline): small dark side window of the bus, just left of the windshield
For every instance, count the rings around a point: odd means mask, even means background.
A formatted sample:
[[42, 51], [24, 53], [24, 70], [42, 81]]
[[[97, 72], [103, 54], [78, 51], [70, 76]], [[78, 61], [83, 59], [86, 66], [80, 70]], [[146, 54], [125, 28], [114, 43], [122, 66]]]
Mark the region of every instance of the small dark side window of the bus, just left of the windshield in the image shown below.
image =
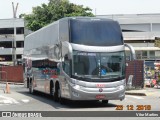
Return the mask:
[[64, 62], [62, 65], [63, 65], [64, 72], [70, 76], [70, 61], [68, 60], [67, 55], [65, 55]]

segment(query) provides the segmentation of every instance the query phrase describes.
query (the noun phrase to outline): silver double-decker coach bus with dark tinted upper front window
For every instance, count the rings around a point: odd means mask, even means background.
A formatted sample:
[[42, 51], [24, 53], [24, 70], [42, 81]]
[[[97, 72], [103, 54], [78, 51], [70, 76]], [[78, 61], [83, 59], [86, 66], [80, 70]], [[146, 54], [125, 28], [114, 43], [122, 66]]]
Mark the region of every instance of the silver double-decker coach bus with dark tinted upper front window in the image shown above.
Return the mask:
[[[96, 17], [60, 19], [25, 38], [29, 92], [55, 101], [123, 100], [125, 44], [118, 22]], [[127, 45], [134, 59], [134, 50]]]

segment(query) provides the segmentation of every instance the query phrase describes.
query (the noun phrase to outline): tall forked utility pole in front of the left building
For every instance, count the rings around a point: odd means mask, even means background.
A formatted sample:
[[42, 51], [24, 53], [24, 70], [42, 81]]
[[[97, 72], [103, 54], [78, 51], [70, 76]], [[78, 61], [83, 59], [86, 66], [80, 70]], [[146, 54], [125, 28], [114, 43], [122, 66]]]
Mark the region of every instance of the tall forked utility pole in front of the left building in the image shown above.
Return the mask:
[[14, 7], [14, 3], [12, 2], [12, 8], [13, 8], [13, 22], [14, 22], [14, 37], [13, 37], [13, 42], [12, 42], [12, 61], [13, 65], [16, 65], [16, 26], [15, 26], [15, 20], [16, 20], [16, 14], [17, 14], [17, 9], [18, 9], [18, 3], [16, 5], [16, 8]]

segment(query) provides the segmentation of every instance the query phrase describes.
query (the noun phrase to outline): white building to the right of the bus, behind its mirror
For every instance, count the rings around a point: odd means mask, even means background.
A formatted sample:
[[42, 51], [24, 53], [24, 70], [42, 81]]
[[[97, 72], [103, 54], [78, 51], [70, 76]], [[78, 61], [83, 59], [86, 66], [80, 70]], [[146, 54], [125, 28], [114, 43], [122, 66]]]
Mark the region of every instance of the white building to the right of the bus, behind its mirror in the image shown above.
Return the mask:
[[[136, 50], [137, 59], [160, 60], [160, 48], [155, 39], [160, 38], [160, 14], [103, 15], [120, 23], [125, 43]], [[127, 53], [129, 54], [129, 53]]]

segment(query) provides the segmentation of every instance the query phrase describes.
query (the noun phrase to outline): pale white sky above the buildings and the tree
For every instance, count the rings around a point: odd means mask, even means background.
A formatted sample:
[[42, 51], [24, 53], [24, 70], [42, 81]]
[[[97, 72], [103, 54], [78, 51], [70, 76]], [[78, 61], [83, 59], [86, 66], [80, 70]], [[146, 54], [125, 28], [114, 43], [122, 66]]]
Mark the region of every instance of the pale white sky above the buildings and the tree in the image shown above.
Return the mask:
[[[160, 0], [69, 0], [88, 6], [96, 15], [160, 13]], [[48, 0], [0, 0], [0, 19], [13, 18], [12, 2], [18, 5], [17, 17], [31, 13], [32, 7], [48, 3]]]

